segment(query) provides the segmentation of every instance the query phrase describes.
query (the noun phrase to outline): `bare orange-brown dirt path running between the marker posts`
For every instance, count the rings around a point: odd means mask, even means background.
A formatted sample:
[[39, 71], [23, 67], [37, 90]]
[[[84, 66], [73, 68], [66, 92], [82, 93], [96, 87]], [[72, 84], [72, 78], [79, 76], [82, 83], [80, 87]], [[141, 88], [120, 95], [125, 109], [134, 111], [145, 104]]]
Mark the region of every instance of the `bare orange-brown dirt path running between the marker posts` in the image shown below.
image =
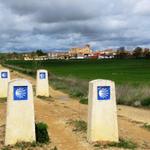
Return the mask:
[[[0, 67], [2, 68], [2, 67]], [[11, 71], [11, 78], [25, 78], [35, 86], [35, 79], [27, 75]], [[61, 91], [50, 87], [51, 98], [42, 100], [35, 97], [35, 116], [37, 122], [45, 122], [49, 127], [52, 146], [58, 150], [97, 150], [92, 143], [88, 143], [85, 133], [72, 131], [68, 120], [87, 121], [87, 106], [80, 104]], [[0, 101], [0, 149], [4, 143], [4, 129], [6, 118], [6, 103]], [[128, 106], [118, 106], [119, 137], [130, 139], [138, 144], [138, 149], [150, 149], [150, 131], [142, 128], [144, 123], [150, 123], [150, 110]], [[43, 148], [50, 150], [52, 146]], [[108, 148], [107, 148], [108, 149]], [[109, 148], [117, 149], [117, 148]]]

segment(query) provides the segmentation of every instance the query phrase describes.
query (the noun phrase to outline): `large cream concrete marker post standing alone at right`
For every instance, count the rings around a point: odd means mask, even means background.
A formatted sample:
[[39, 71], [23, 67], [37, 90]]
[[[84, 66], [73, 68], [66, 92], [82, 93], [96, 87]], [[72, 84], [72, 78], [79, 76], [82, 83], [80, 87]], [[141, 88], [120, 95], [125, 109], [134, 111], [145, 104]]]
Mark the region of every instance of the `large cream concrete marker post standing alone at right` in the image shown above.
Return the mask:
[[109, 80], [89, 82], [88, 99], [88, 141], [118, 142], [115, 83]]

